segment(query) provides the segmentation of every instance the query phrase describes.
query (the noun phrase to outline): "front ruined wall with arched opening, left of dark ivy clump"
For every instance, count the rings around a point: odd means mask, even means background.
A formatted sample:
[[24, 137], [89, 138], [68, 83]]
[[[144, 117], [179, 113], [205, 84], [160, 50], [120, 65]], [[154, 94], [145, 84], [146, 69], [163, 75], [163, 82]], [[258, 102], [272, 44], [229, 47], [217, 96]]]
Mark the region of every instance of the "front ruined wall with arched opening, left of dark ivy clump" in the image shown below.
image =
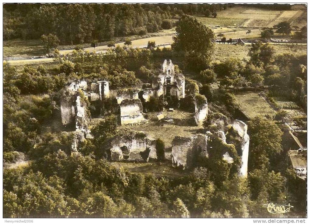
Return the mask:
[[107, 143], [106, 156], [112, 161], [156, 160], [155, 139], [148, 137], [144, 132], [116, 135]]

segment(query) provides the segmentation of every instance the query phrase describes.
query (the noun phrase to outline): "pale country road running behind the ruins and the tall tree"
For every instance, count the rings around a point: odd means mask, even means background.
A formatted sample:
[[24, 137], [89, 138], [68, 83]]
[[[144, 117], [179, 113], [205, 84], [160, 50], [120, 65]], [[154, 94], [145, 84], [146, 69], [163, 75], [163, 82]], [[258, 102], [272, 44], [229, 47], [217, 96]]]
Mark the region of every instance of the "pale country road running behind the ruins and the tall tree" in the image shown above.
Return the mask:
[[[168, 36], [156, 36], [156, 37], [148, 37], [138, 40], [132, 40], [130, 47], [132, 48], [146, 48], [148, 45], [148, 41], [155, 41], [156, 46], [159, 46], [160, 48], [166, 47], [170, 48], [171, 44], [173, 43], [172, 37], [175, 35], [168, 35]], [[222, 44], [219, 42], [216, 42], [216, 44]], [[227, 44], [227, 43], [225, 43]], [[236, 44], [235, 42], [232, 42], [232, 44]], [[245, 42], [246, 45], [250, 45], [251, 43]], [[269, 43], [269, 44], [293, 44], [293, 43]], [[306, 43], [297, 43], [298, 45], [307, 45]], [[125, 42], [117, 43], [116, 46], [123, 47], [125, 45]], [[95, 52], [95, 53], [104, 53], [108, 50], [107, 45], [98, 46], [98, 47], [90, 47], [90, 48], [84, 48], [84, 51], [89, 52]], [[60, 54], [72, 54], [73, 49], [70, 50], [60, 50]], [[3, 62], [9, 62], [11, 65], [26, 65], [26, 64], [36, 64], [36, 63], [48, 63], [53, 62], [53, 58], [33, 58], [33, 59], [21, 59], [21, 60], [3, 60]]]

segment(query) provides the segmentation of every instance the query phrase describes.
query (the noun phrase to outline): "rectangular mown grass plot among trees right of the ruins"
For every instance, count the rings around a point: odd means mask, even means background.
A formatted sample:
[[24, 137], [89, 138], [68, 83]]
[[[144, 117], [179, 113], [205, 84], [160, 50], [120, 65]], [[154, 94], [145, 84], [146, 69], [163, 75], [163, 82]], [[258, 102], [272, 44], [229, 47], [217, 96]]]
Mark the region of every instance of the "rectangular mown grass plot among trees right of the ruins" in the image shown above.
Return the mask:
[[255, 92], [242, 92], [235, 94], [235, 103], [251, 119], [256, 116], [265, 116], [267, 114], [273, 116], [276, 114], [266, 100]]

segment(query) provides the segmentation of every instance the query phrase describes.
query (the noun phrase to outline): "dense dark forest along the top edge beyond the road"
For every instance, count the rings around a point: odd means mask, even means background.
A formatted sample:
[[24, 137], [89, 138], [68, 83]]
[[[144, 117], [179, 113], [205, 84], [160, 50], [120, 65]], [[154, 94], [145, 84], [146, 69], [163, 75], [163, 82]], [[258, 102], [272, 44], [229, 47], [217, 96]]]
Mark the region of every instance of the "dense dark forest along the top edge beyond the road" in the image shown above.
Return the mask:
[[[179, 15], [206, 15], [234, 4], [4, 4], [3, 37], [36, 39], [55, 34], [61, 44], [110, 40], [114, 36], [142, 35], [171, 28]], [[289, 4], [255, 7], [289, 10]], [[168, 21], [167, 21], [168, 20]]]

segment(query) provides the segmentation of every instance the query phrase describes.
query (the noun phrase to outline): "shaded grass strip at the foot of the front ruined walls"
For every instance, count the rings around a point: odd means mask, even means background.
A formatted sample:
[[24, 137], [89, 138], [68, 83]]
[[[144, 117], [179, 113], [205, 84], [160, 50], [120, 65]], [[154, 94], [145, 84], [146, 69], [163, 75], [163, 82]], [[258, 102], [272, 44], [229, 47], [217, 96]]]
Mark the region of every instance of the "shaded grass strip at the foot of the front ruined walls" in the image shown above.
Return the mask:
[[132, 173], [153, 174], [158, 177], [182, 177], [189, 174], [187, 170], [172, 167], [171, 161], [163, 163], [112, 162], [111, 164], [119, 168], [122, 167]]

